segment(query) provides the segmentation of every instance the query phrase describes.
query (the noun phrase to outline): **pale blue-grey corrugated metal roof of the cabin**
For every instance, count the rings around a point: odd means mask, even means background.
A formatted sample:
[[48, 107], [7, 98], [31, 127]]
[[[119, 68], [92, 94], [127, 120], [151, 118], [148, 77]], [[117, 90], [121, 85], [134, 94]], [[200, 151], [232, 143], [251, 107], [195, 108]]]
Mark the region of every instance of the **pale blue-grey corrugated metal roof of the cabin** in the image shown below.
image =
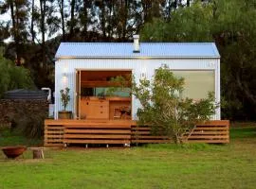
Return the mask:
[[215, 43], [61, 43], [55, 58], [219, 58]]

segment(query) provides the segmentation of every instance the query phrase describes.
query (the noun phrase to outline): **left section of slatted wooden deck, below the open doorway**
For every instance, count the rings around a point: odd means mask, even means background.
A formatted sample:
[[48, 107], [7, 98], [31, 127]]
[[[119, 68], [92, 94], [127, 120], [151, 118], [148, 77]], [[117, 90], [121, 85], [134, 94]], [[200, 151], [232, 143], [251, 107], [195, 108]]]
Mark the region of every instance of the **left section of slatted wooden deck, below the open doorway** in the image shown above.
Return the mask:
[[[134, 121], [127, 120], [46, 120], [45, 146], [54, 146], [54, 144], [58, 144], [56, 146], [68, 144], [129, 146], [131, 125], [134, 124]], [[51, 128], [55, 129], [54, 134]]]

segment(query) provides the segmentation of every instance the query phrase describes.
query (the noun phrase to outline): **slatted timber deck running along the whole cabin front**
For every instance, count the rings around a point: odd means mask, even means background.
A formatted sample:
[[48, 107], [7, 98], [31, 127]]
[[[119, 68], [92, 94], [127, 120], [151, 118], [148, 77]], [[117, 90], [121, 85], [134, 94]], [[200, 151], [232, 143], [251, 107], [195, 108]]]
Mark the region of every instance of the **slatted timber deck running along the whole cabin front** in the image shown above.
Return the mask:
[[[198, 124], [184, 135], [187, 143], [229, 143], [229, 121]], [[167, 136], [154, 136], [148, 127], [132, 120], [45, 120], [45, 146], [66, 144], [171, 143]]]

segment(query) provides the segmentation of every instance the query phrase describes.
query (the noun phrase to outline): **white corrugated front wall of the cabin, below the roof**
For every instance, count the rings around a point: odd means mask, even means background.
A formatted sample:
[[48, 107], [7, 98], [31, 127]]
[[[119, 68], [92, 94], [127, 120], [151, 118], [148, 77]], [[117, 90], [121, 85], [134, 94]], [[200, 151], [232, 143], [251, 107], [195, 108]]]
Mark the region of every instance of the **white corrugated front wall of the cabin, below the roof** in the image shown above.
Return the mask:
[[[82, 70], [132, 70], [136, 80], [142, 77], [152, 79], [155, 69], [167, 64], [172, 70], [214, 70], [215, 98], [220, 102], [220, 60], [219, 59], [60, 59], [55, 62], [55, 119], [62, 110], [60, 90], [70, 88], [70, 103], [67, 110], [74, 112], [74, 96], [76, 85], [76, 69]], [[137, 117], [139, 103], [132, 99], [133, 119]], [[213, 119], [220, 119], [220, 108]]]

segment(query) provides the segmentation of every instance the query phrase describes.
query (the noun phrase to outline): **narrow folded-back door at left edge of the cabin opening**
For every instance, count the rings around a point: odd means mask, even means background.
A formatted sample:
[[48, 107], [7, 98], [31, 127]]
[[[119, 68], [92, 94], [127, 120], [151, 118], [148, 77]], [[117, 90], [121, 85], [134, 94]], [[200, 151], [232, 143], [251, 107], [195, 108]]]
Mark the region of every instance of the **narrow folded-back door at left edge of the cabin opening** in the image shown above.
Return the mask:
[[74, 94], [74, 117], [81, 119], [81, 70], [76, 70]]

